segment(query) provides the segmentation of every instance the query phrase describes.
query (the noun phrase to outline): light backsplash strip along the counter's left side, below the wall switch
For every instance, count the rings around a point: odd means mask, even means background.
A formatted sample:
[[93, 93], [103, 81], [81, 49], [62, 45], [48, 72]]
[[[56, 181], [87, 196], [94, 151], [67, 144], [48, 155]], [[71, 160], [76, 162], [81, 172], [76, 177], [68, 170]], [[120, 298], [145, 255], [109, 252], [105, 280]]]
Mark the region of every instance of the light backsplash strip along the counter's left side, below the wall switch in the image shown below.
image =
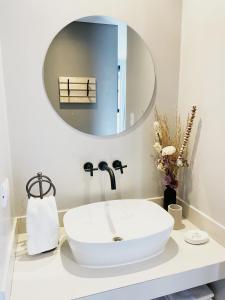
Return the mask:
[[16, 218], [13, 219], [12, 231], [8, 246], [8, 257], [6, 259], [6, 267], [2, 286], [0, 287], [0, 300], [10, 300], [11, 285], [13, 277], [13, 269], [15, 262], [16, 244], [17, 244], [17, 231], [16, 231]]

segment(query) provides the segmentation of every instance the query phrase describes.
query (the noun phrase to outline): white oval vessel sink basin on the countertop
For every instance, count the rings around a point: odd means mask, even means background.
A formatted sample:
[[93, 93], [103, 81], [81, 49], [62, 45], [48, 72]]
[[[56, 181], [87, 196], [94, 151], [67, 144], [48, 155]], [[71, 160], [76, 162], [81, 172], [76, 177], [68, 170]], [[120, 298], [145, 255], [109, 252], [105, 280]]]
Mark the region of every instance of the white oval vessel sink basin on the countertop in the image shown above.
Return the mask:
[[154, 202], [112, 200], [70, 209], [64, 216], [77, 263], [90, 268], [147, 260], [163, 252], [173, 218]]

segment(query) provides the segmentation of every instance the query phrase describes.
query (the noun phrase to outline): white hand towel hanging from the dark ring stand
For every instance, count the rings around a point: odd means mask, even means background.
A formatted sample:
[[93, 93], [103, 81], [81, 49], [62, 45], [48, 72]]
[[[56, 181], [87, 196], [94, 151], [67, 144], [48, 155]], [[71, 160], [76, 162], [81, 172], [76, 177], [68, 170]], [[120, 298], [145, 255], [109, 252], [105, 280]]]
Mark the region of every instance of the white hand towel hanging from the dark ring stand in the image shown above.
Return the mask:
[[54, 196], [28, 199], [27, 251], [29, 255], [57, 247], [59, 219]]

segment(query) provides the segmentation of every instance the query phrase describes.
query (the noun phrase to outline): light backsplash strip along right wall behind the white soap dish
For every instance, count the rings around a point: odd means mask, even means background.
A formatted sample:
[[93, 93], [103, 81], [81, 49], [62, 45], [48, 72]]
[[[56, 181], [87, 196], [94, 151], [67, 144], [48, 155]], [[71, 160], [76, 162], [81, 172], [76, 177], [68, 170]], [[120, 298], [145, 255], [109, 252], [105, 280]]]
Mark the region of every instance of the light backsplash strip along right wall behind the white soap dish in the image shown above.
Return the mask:
[[225, 226], [179, 197], [177, 202], [183, 207], [184, 218], [190, 220], [198, 228], [207, 231], [214, 240], [225, 247]]

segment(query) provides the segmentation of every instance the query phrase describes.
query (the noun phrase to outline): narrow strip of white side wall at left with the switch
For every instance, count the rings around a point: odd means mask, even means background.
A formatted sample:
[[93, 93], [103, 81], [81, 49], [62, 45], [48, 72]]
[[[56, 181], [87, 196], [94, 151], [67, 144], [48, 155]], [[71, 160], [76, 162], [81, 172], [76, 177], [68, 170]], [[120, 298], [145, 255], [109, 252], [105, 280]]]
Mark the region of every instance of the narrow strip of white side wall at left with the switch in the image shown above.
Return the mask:
[[[6, 99], [3, 84], [3, 70], [0, 44], [0, 183], [8, 178], [11, 181], [9, 136], [6, 114]], [[12, 192], [11, 192], [12, 194]], [[3, 204], [0, 199], [0, 299], [6, 286], [8, 259], [10, 255], [9, 243], [12, 231], [10, 202]]]

